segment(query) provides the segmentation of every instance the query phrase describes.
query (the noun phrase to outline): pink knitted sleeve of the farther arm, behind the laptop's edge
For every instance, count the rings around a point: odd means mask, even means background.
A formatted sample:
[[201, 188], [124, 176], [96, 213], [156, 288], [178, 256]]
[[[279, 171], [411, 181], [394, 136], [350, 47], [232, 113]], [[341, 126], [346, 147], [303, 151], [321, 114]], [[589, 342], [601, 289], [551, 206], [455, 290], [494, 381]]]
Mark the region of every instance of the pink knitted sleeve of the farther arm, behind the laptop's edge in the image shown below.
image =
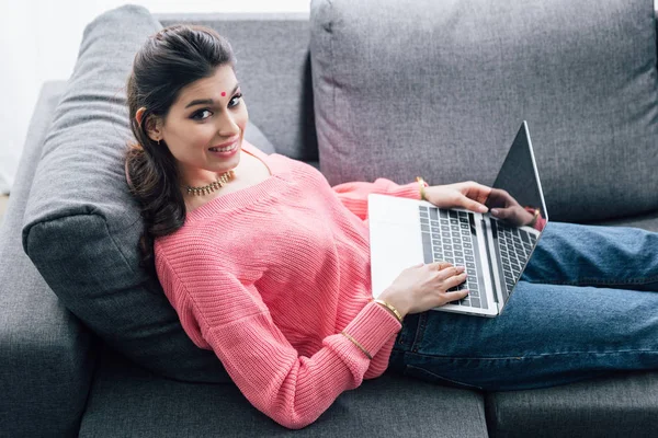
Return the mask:
[[398, 185], [390, 180], [377, 178], [374, 183], [343, 183], [331, 188], [333, 188], [342, 204], [359, 216], [361, 220], [367, 220], [367, 195], [371, 193], [420, 199], [418, 182]]

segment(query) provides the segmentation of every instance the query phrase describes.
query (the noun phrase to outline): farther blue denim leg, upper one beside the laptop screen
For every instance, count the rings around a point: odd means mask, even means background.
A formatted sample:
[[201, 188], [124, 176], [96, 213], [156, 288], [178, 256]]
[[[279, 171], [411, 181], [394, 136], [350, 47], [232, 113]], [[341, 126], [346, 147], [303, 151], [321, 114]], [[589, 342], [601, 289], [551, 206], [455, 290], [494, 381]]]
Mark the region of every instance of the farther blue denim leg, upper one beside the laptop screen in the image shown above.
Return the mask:
[[522, 280], [658, 290], [658, 233], [548, 222]]

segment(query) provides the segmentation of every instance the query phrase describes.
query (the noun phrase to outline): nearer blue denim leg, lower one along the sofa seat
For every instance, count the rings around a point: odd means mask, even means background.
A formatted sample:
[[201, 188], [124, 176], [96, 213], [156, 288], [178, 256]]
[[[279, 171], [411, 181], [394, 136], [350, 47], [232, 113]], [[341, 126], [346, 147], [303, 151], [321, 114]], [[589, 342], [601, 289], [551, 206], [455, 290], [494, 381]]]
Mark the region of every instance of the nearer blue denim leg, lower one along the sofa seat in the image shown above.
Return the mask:
[[520, 281], [497, 318], [428, 311], [410, 322], [396, 367], [436, 382], [500, 391], [658, 369], [658, 293]]

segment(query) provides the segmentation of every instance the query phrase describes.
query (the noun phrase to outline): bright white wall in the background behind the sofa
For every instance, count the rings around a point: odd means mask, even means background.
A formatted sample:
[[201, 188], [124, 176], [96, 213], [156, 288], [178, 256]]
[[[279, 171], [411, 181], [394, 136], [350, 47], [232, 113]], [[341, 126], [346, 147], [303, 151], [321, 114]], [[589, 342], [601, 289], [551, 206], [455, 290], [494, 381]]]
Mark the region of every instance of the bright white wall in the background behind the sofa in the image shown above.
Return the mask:
[[68, 79], [87, 23], [126, 2], [154, 13], [308, 12], [310, 5], [310, 0], [0, 0], [0, 193], [13, 183], [42, 83]]

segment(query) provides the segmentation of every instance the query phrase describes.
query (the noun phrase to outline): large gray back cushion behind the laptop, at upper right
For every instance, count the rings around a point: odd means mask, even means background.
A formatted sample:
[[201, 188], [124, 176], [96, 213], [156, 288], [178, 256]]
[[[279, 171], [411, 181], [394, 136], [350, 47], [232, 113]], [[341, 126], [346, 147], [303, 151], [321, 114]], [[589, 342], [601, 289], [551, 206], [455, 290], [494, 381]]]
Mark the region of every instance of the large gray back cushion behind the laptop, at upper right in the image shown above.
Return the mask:
[[315, 0], [310, 21], [331, 184], [492, 184], [526, 119], [552, 219], [658, 208], [653, 0]]

